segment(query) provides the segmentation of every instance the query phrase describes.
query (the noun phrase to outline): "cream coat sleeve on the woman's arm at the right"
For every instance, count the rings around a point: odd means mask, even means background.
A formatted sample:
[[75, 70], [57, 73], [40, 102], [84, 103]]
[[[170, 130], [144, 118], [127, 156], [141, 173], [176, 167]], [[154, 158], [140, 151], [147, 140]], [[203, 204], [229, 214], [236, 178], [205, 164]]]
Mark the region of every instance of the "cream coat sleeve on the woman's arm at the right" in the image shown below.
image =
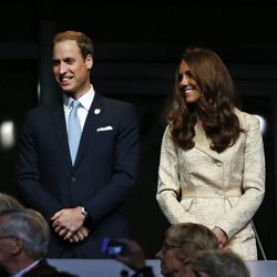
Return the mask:
[[265, 195], [265, 156], [259, 121], [250, 115], [246, 122], [243, 195], [216, 224], [228, 237], [233, 237], [249, 223]]

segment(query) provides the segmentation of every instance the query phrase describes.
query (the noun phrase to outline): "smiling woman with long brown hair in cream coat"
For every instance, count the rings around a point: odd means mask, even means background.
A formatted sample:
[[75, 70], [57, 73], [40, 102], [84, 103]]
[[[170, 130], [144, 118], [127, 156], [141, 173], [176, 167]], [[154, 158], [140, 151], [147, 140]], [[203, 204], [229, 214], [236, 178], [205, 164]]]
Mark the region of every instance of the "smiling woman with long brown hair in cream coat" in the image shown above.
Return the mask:
[[157, 202], [171, 224], [214, 230], [219, 247], [257, 259], [250, 219], [265, 194], [259, 121], [233, 103], [234, 86], [220, 58], [187, 49], [165, 130]]

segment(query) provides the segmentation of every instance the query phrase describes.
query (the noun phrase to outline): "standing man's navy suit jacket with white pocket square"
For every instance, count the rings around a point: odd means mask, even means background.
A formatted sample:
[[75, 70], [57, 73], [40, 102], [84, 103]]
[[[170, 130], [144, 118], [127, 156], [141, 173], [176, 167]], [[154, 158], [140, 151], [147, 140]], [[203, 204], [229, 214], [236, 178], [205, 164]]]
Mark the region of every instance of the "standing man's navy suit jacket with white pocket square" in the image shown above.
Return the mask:
[[70, 244], [52, 232], [49, 257], [74, 247], [82, 257], [103, 258], [103, 237], [127, 236], [122, 206], [135, 184], [138, 156], [138, 124], [132, 104], [95, 93], [74, 166], [63, 106], [40, 106], [28, 113], [17, 162], [22, 201], [49, 222], [55, 212], [78, 205], [90, 214], [90, 236]]

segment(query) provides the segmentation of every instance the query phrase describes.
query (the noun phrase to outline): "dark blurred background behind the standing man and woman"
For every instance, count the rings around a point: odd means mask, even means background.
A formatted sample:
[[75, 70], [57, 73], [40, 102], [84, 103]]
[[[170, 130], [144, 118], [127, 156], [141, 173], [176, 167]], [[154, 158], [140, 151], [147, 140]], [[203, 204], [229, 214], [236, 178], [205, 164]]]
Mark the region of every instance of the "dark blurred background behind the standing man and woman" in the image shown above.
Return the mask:
[[[240, 106], [265, 120], [266, 196], [254, 223], [268, 259], [277, 259], [277, 8], [274, 1], [53, 1], [0, 3], [0, 185], [13, 186], [17, 142], [28, 110], [55, 101], [51, 40], [80, 30], [95, 44], [92, 83], [136, 106], [142, 160], [126, 201], [132, 236], [153, 258], [168, 223], [155, 199], [163, 112], [183, 49], [202, 45], [228, 66]], [[14, 136], [13, 136], [14, 134]], [[212, 216], [212, 215], [211, 215]], [[263, 259], [261, 253], [259, 258]]]

